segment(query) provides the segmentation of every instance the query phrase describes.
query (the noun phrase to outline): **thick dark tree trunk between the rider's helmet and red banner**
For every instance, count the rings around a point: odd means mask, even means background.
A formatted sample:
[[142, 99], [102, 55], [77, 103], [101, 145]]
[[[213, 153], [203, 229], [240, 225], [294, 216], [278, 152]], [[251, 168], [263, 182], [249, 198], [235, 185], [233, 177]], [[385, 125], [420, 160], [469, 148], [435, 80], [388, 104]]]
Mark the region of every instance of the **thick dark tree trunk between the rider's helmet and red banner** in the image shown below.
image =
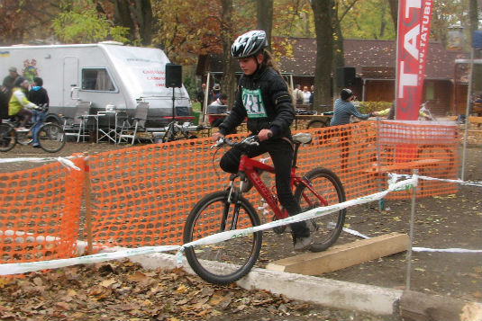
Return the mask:
[[314, 30], [316, 31], [316, 67], [314, 69], [314, 110], [320, 104], [331, 104], [331, 74], [333, 59], [332, 1], [313, 0]]

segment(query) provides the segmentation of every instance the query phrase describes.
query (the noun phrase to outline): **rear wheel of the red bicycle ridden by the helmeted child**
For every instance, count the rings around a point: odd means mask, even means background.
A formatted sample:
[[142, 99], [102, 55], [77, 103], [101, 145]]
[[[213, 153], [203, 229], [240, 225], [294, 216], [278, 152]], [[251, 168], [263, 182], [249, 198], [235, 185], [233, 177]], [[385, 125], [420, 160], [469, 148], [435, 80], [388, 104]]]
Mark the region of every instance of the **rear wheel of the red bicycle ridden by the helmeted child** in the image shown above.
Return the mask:
[[[336, 174], [326, 168], [314, 168], [305, 175], [306, 180], [313, 187], [327, 205], [338, 204], [345, 201], [345, 191], [340, 179]], [[296, 200], [299, 201], [303, 211], [312, 210], [324, 206], [323, 202], [311, 192], [304, 184], [296, 187]], [[345, 222], [346, 210], [337, 210], [318, 218], [307, 220], [311, 229], [313, 243], [310, 251], [321, 252], [333, 245], [340, 236]]]

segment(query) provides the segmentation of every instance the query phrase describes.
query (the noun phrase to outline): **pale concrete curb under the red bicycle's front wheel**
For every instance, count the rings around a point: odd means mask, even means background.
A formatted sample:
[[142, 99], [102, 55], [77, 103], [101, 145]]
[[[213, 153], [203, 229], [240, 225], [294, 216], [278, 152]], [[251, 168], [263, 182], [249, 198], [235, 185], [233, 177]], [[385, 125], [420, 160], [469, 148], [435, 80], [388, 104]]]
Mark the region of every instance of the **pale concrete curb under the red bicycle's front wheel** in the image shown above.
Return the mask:
[[[173, 269], [182, 266], [186, 272], [195, 274], [185, 258], [183, 263], [178, 264], [176, 256], [171, 254], [136, 255], [130, 257], [130, 260], [140, 263], [146, 269]], [[263, 289], [283, 294], [289, 299], [312, 302], [328, 308], [358, 310], [376, 315], [394, 314], [403, 294], [403, 290], [259, 268], [252, 269], [237, 283], [247, 290]]]

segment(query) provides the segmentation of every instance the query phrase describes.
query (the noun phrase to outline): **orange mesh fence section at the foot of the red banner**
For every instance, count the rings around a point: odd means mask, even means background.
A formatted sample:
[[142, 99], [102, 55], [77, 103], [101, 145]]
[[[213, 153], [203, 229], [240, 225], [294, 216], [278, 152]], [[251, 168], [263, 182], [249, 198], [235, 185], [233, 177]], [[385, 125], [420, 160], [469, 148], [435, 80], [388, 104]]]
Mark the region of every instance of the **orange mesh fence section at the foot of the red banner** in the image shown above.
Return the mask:
[[[441, 179], [457, 179], [458, 129], [455, 123], [429, 121], [378, 121], [378, 169], [380, 172], [418, 174]], [[386, 186], [385, 184], [384, 186]], [[455, 183], [421, 180], [417, 197], [457, 191]], [[395, 192], [388, 198], [405, 198]]]

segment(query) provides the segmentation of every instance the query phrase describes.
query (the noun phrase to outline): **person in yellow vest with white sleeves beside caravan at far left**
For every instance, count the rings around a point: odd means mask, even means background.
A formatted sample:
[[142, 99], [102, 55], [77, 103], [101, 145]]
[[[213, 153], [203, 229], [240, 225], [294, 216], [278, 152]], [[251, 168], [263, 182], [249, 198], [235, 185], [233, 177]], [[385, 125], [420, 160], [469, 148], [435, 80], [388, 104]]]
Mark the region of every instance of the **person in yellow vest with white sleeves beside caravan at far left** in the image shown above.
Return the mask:
[[12, 97], [8, 103], [8, 116], [18, 115], [22, 118], [18, 131], [25, 131], [25, 124], [32, 119], [32, 109], [36, 109], [35, 103], [29, 102], [23, 90], [28, 90], [29, 81], [23, 77], [17, 77], [14, 81], [14, 89], [12, 90]]

